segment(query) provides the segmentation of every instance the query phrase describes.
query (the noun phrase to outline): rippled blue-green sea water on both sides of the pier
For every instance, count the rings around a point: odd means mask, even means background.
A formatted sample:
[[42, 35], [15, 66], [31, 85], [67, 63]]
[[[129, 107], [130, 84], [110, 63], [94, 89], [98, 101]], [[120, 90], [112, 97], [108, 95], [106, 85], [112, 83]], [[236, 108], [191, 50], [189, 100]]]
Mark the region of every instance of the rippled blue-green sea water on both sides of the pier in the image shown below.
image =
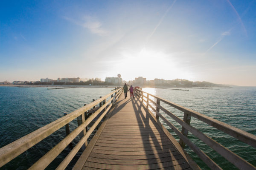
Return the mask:
[[[0, 147], [61, 118], [64, 116], [64, 113], [71, 113], [81, 108], [84, 104], [92, 102], [93, 99], [98, 99], [100, 96], [111, 93], [111, 90], [111, 88], [48, 90], [47, 87], [0, 87]], [[143, 88], [143, 91], [160, 96], [163, 99], [256, 135], [256, 87], [236, 86], [233, 88], [215, 89], [180, 88], [180, 90]], [[160, 102], [160, 104], [180, 117], [180, 119], [183, 119], [183, 112], [164, 103]], [[181, 126], [172, 118], [166, 113], [161, 113], [181, 130]], [[173, 130], [164, 122], [163, 125], [178, 141], [179, 138]], [[191, 119], [191, 125], [256, 166], [255, 148], [193, 117]], [[70, 122], [69, 126], [70, 131], [73, 131], [77, 127], [76, 119]], [[65, 136], [65, 127], [62, 127], [1, 167], [0, 170], [28, 169], [47, 153], [47, 151], [54, 147], [55, 144], [64, 139]], [[236, 169], [233, 164], [229, 163], [220, 154], [193, 136], [193, 134], [189, 133], [188, 138], [224, 170]], [[75, 145], [78, 141], [79, 137], [76, 137], [72, 144]], [[65, 148], [46, 169], [55, 169], [70, 150], [71, 147]], [[203, 170], [209, 170], [207, 165], [189, 147], [185, 147], [185, 150]], [[81, 152], [79, 151], [67, 169], [72, 169], [80, 155]]]

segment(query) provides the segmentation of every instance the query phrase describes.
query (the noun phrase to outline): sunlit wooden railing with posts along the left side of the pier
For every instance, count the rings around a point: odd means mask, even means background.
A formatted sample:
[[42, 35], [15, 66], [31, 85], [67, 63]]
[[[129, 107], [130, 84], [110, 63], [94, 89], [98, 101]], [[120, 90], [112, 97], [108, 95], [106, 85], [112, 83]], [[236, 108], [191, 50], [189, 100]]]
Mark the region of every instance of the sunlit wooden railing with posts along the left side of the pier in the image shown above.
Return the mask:
[[[70, 161], [73, 159], [73, 157], [76, 155], [76, 153], [79, 151], [79, 149], [82, 146], [87, 145], [87, 139], [93, 132], [93, 130], [97, 127], [99, 122], [104, 118], [104, 116], [108, 113], [112, 105], [115, 103], [116, 99], [120, 96], [122, 93], [122, 88], [119, 88], [110, 94], [91, 102], [88, 105], [85, 105], [84, 107], [73, 111], [72, 113], [67, 114], [66, 116], [55, 120], [54, 122], [41, 127], [38, 130], [35, 130], [32, 133], [29, 133], [26, 136], [23, 136], [20, 139], [17, 139], [16, 141], [0, 148], [0, 167], [14, 159], [15, 157], [19, 156], [21, 153], [28, 150], [30, 147], [34, 146], [38, 142], [45, 139], [47, 136], [54, 133], [56, 130], [60, 129], [61, 127], [67, 125], [69, 122], [71, 122], [74, 119], [80, 119], [81, 124], [73, 130], [70, 134], [68, 134], [61, 142], [55, 145], [49, 152], [47, 152], [41, 159], [39, 159], [35, 164], [33, 164], [29, 169], [33, 170], [41, 170], [45, 169], [66, 147], [70, 142], [73, 141], [73, 139], [76, 138], [76, 136], [80, 136], [80, 141], [76, 144], [75, 147], [70, 151], [70, 153], [65, 157], [65, 159], [61, 162], [61, 164], [58, 165], [56, 169], [63, 170], [67, 165], [70, 163]], [[110, 99], [108, 99], [110, 97]], [[108, 101], [106, 101], [108, 99]], [[100, 107], [95, 113], [93, 113], [90, 117], [85, 119], [85, 114], [89, 109], [95, 107], [98, 104], [102, 104], [102, 107]], [[90, 127], [90, 130], [86, 131], [86, 127], [90, 124], [90, 122], [93, 121], [93, 119], [96, 118], [96, 116], [101, 113], [101, 116], [96, 120], [96, 122]]]

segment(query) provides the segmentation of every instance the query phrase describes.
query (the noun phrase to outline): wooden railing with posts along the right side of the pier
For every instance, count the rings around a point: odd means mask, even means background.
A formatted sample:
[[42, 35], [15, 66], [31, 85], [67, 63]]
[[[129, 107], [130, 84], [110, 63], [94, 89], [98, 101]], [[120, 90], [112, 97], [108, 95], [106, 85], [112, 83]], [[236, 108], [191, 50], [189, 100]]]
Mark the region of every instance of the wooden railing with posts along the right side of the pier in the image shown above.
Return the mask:
[[[145, 91], [142, 91], [141, 89], [136, 89], [135, 93], [139, 96], [140, 101], [143, 103], [144, 107], [151, 113], [151, 110], [154, 111], [156, 114], [156, 119], [158, 120], [159, 117], [169, 126], [171, 127], [174, 132], [177, 134], [177, 136], [180, 137], [180, 145], [184, 148], [185, 144], [189, 146], [202, 161], [204, 161], [205, 164], [207, 164], [208, 167], [210, 167], [212, 170], [221, 170], [221, 167], [219, 167], [218, 164], [216, 164], [207, 154], [204, 153], [203, 150], [201, 150], [199, 147], [197, 147], [194, 143], [192, 143], [188, 138], [188, 132], [191, 132], [193, 135], [195, 135], [198, 139], [200, 139], [202, 142], [207, 144], [209, 147], [211, 147], [213, 150], [215, 150], [217, 153], [219, 153], [221, 156], [223, 156], [225, 159], [230, 161], [232, 164], [234, 164], [239, 169], [243, 170], [256, 170], [256, 167], [241, 158], [240, 156], [236, 155], [236, 153], [233, 153], [232, 151], [228, 150], [226, 147], [222, 146], [215, 140], [211, 139], [209, 136], [205, 135], [201, 131], [197, 130], [195, 127], [192, 127], [190, 125], [191, 116], [195, 117], [198, 120], [201, 120], [202, 122], [207, 123], [208, 125], [211, 125], [212, 127], [217, 128], [218, 130], [223, 131], [224, 133], [227, 133], [230, 136], [235, 137], [236, 139], [239, 139], [240, 141], [251, 145], [252, 147], [256, 148], [256, 136], [247, 133], [243, 130], [240, 130], [236, 127], [227, 125], [224, 122], [215, 120], [211, 117], [208, 117], [204, 114], [192, 111], [188, 108], [184, 108], [180, 105], [177, 105], [173, 102], [169, 102], [168, 100], [165, 100], [163, 98], [154, 96], [152, 94], [146, 93]], [[145, 96], [146, 94], [146, 96]], [[154, 99], [150, 99], [151, 98]], [[156, 102], [155, 102], [156, 101]], [[163, 108], [160, 105], [160, 101], [166, 103], [167, 105], [170, 105], [182, 112], [184, 112], [183, 120], [179, 117], [175, 116], [172, 112], [168, 111], [166, 108]], [[153, 105], [151, 105], [151, 103]], [[149, 107], [151, 109], [149, 109]], [[177, 123], [179, 123], [182, 126], [182, 130], [178, 130], [177, 127], [172, 125], [171, 122], [169, 122], [166, 117], [164, 117], [160, 110], [169, 115], [172, 119], [174, 119]], [[158, 124], [161, 124], [160, 121], [157, 121]]]

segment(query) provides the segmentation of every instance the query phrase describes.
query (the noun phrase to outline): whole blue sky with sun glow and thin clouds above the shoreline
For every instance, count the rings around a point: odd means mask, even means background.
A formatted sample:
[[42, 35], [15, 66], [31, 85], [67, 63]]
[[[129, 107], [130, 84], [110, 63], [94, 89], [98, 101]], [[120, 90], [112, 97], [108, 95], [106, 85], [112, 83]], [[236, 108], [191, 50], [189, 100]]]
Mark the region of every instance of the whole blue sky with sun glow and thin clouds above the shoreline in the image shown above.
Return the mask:
[[256, 86], [256, 0], [1, 1], [0, 81]]

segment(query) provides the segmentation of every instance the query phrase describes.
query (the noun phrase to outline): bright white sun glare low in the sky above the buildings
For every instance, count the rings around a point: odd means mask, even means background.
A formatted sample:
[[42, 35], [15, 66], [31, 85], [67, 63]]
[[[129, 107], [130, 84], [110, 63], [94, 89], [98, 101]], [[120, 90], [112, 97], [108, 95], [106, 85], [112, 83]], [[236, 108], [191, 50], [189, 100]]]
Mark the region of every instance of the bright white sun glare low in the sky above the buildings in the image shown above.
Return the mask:
[[143, 48], [140, 51], [123, 50], [121, 55], [120, 69], [122, 70], [124, 65], [128, 66], [127, 77], [189, 79], [192, 76], [189, 68], [183, 69], [183, 62], [177, 59], [179, 56], [174, 56], [174, 54]]

